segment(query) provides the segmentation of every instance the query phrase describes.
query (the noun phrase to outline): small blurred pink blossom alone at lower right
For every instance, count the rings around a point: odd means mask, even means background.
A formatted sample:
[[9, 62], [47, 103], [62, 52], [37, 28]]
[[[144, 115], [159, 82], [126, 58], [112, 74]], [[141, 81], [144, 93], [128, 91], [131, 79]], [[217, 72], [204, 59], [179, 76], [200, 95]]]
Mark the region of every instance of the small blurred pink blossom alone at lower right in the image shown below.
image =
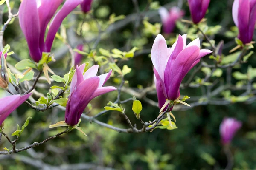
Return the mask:
[[236, 132], [242, 127], [242, 122], [235, 118], [224, 118], [220, 125], [221, 142], [229, 144]]

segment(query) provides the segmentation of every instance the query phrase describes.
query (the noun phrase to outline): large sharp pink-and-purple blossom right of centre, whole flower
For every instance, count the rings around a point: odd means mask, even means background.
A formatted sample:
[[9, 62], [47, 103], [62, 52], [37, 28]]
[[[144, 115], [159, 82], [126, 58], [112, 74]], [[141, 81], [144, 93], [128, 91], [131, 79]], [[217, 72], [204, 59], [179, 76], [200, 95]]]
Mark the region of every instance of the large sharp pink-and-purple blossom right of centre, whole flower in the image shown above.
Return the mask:
[[180, 97], [180, 84], [186, 74], [210, 50], [200, 50], [200, 40], [195, 39], [186, 45], [186, 34], [178, 37], [172, 48], [167, 48], [166, 40], [158, 34], [151, 50], [154, 65], [155, 85], [159, 108], [166, 99], [175, 100]]

